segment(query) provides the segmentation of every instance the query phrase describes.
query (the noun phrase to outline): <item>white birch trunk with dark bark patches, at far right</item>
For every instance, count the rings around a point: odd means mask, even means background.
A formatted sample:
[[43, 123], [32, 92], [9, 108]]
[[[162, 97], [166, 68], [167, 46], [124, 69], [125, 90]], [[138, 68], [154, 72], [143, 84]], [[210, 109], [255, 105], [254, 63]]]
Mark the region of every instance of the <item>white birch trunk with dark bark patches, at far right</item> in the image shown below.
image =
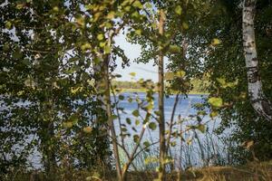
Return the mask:
[[248, 96], [257, 114], [272, 120], [272, 105], [264, 95], [259, 75], [257, 49], [254, 31], [254, 17], [257, 0], [244, 0], [243, 3], [243, 46], [248, 73]]

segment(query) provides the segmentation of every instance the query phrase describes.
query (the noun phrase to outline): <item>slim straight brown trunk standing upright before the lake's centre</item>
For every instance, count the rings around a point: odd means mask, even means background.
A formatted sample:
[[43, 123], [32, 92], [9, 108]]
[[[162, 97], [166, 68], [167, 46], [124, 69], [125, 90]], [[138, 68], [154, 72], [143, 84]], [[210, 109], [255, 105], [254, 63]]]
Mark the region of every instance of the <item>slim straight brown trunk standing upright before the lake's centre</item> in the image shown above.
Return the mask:
[[[159, 24], [159, 33], [163, 35], [163, 26], [164, 26], [165, 14], [160, 10], [160, 24]], [[160, 129], [160, 169], [159, 169], [159, 180], [165, 180], [165, 155], [166, 155], [166, 146], [165, 146], [165, 120], [164, 120], [164, 80], [163, 80], [163, 52], [160, 50], [159, 54], [159, 129]]]

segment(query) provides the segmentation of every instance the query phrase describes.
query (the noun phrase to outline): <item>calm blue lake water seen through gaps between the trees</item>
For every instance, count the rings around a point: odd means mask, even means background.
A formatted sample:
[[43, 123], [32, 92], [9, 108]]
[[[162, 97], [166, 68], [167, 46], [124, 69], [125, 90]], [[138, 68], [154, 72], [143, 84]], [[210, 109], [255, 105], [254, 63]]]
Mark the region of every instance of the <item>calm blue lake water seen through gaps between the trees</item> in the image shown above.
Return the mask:
[[[138, 93], [132, 93], [132, 92], [125, 92], [122, 93], [122, 95], [124, 96], [124, 100], [120, 100], [119, 102], [119, 107], [124, 109], [124, 112], [120, 112], [121, 115], [121, 124], [126, 124], [127, 125], [127, 129], [128, 132], [131, 133], [131, 137], [127, 137], [125, 139], [125, 147], [128, 149], [133, 148], [134, 146], [134, 142], [133, 142], [133, 135], [135, 134], [140, 134], [140, 131], [142, 129], [142, 124], [140, 123], [139, 125], [135, 125], [136, 119], [134, 116], [132, 116], [131, 112], [133, 110], [137, 109], [137, 102], [135, 101], [136, 97], [138, 97], [141, 100], [145, 99], [146, 94], [143, 92], [138, 92]], [[131, 97], [133, 99], [132, 102], [128, 101], [128, 98]], [[180, 118], [184, 119], [184, 122], [182, 124], [176, 125], [174, 126], [173, 130], [175, 131], [180, 131], [180, 130], [184, 130], [186, 128], [186, 126], [188, 125], [196, 125], [198, 123], [198, 121], [191, 117], [191, 115], [196, 115], [197, 111], [196, 109], [193, 108], [193, 105], [195, 103], [201, 103], [203, 102], [204, 98], [206, 96], [205, 95], [189, 95], [188, 97], [180, 97], [179, 103], [177, 105], [177, 109], [175, 112], [175, 120], [177, 120], [180, 116]], [[158, 110], [158, 94], [154, 94], [154, 110]], [[113, 100], [113, 98], [112, 98]], [[164, 109], [165, 109], [165, 119], [166, 121], [170, 121], [170, 116], [171, 116], [171, 112], [173, 109], [173, 105], [175, 102], [175, 95], [170, 95], [169, 97], [166, 97], [164, 100]], [[207, 110], [207, 109], [206, 109]], [[209, 114], [209, 110], [208, 114]], [[141, 110], [140, 114], [142, 117], [145, 116], [145, 111]], [[126, 118], [130, 118], [131, 119], [131, 125], [128, 125], [125, 121]], [[151, 119], [151, 121], [155, 121], [154, 119]], [[184, 132], [182, 135], [182, 138], [184, 138], [183, 141], [180, 141], [180, 138], [176, 138], [175, 141], [176, 142], [176, 147], [172, 147], [170, 148], [170, 152], [172, 154], [172, 156], [175, 158], [177, 163], [182, 163], [177, 164], [177, 166], [179, 167], [188, 167], [190, 165], [192, 166], [203, 166], [203, 160], [201, 160], [200, 155], [201, 155], [201, 149], [199, 149], [199, 143], [203, 143], [203, 145], [205, 144], [206, 148], [208, 151], [206, 151], [206, 156], [207, 158], [209, 157], [214, 157], [215, 154], [223, 154], [222, 150], [219, 149], [219, 147], [223, 146], [223, 143], [220, 142], [219, 138], [215, 137], [214, 135], [212, 135], [212, 130], [216, 129], [217, 126], [219, 125], [219, 120], [210, 120], [209, 116], [205, 116], [203, 118], [203, 120], [201, 121], [201, 123], [206, 124], [208, 128], [208, 132], [206, 132], [205, 134], [200, 133], [199, 131], [188, 131], [188, 132]], [[118, 119], [114, 120], [114, 125], [115, 125], [115, 129], [118, 135], [120, 135], [120, 125], [118, 122]], [[132, 127], [134, 129], [132, 129]], [[167, 126], [166, 126], [167, 128]], [[135, 131], [136, 130], [136, 131]], [[209, 137], [207, 136], [209, 133]], [[199, 140], [196, 139], [196, 134], [199, 138]], [[157, 142], [159, 140], [159, 130], [158, 128], [155, 130], [151, 130], [151, 129], [146, 129], [144, 136], [142, 138], [142, 142], [143, 141], [149, 141], [150, 143], [154, 143]], [[200, 142], [199, 142], [200, 141]], [[190, 143], [189, 143], [190, 142]], [[217, 145], [215, 145], [215, 143]], [[212, 148], [213, 147], [213, 148]], [[218, 147], [218, 148], [216, 148]], [[213, 149], [210, 150], [209, 149]], [[203, 151], [203, 150], [202, 150]], [[210, 153], [209, 153], [210, 152]], [[157, 156], [158, 155], [158, 144], [154, 145], [151, 148], [151, 152], [147, 153], [150, 154], [150, 156]], [[121, 154], [123, 155], [123, 153], [121, 152]], [[34, 167], [41, 167], [40, 163], [40, 154], [35, 151], [34, 155], [32, 157], [30, 157], [30, 162], [33, 163]], [[144, 160], [142, 160], [143, 157], [147, 157], [147, 155], [145, 154], [145, 156], [141, 156], [140, 159], [135, 160], [136, 161], [136, 166], [142, 168], [142, 164], [144, 162]], [[121, 156], [121, 159], [123, 159], [125, 161], [125, 157]], [[139, 163], [137, 165], [137, 163]]]

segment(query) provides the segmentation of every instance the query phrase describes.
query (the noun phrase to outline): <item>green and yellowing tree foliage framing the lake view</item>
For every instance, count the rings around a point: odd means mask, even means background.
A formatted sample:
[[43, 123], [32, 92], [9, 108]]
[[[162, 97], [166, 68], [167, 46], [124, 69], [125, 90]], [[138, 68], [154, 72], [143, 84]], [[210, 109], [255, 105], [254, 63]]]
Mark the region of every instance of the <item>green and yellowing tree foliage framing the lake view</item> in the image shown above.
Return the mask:
[[[13, 173], [18, 167], [22, 170], [33, 167], [28, 160], [38, 152], [48, 180], [53, 180], [58, 172], [68, 176], [73, 169], [99, 170], [101, 167], [107, 170], [115, 167], [118, 179], [125, 180], [128, 170], [134, 167], [135, 157], [156, 144], [145, 140], [143, 135], [146, 129], [156, 131], [157, 126], [160, 146], [164, 144], [161, 140], [166, 139], [166, 149], [160, 147], [159, 150], [166, 154], [164, 160], [159, 159], [159, 172], [163, 173], [161, 165], [174, 168], [170, 148], [177, 145], [176, 140], [180, 140], [181, 145], [191, 145], [194, 140], [201, 145], [199, 133], [209, 132], [207, 122], [203, 121], [208, 114], [209, 121], [218, 116], [221, 119], [219, 134], [231, 131], [229, 140], [236, 144], [229, 150], [238, 153], [235, 160], [239, 163], [248, 158], [271, 159], [272, 124], [258, 118], [248, 100], [240, 2], [2, 2], [1, 176]], [[271, 12], [270, 1], [257, 1], [255, 31], [259, 68], [270, 100]], [[116, 62], [120, 61], [122, 68], [131, 62], [115, 43], [120, 33], [127, 36], [128, 42], [141, 45], [141, 56], [136, 62], [160, 65], [163, 58], [167, 58], [167, 73], [160, 74], [160, 78], [166, 80], [165, 91], [162, 79], [159, 84], [149, 80], [114, 81], [121, 76], [113, 73]], [[131, 72], [132, 77], [135, 74]], [[125, 97], [120, 88], [140, 88], [145, 91], [145, 98], [141, 99], [137, 93], [135, 97]], [[177, 94], [172, 116], [166, 124], [162, 118], [162, 101], [159, 111], [154, 103], [158, 90], [160, 100], [164, 99], [164, 93]], [[189, 116], [190, 124], [184, 125], [185, 119], [175, 117], [179, 96], [196, 90], [209, 91], [209, 97], [204, 104], [195, 105], [198, 112]], [[121, 101], [136, 105], [124, 123], [121, 116], [127, 113], [119, 106]], [[168, 126], [165, 135], [164, 125]], [[187, 126], [184, 131], [180, 130], [182, 126]], [[120, 134], [115, 129], [119, 129]], [[185, 138], [188, 132], [192, 136]], [[134, 142], [132, 150], [125, 144], [127, 139]], [[119, 150], [127, 157], [122, 164]], [[203, 160], [204, 151], [199, 148]]]

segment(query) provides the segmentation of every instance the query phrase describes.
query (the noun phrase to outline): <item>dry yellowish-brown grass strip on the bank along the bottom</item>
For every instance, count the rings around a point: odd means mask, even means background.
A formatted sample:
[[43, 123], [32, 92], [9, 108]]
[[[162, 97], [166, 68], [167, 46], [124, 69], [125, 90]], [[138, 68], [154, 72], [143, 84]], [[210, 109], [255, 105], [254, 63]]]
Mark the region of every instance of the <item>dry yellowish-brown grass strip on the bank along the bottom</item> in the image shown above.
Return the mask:
[[[157, 177], [154, 172], [130, 172], [128, 181], [152, 181]], [[116, 181], [115, 172], [99, 171], [72, 171], [63, 170], [55, 175], [55, 180], [78, 180], [78, 181]], [[13, 176], [7, 176], [2, 180], [15, 181], [45, 181], [42, 172], [20, 173], [17, 172]], [[272, 161], [262, 163], [248, 163], [241, 167], [205, 167], [186, 171], [174, 172], [167, 175], [167, 180], [191, 180], [191, 181], [268, 181], [272, 180]]]

